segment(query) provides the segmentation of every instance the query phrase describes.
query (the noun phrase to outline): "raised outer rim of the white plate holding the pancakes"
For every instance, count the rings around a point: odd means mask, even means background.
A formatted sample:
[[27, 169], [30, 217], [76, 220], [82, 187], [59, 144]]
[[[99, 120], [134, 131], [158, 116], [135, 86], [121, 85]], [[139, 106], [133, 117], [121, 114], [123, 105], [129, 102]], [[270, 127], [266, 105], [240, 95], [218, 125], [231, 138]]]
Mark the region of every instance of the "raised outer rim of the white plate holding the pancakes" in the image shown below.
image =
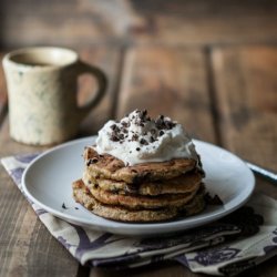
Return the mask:
[[[193, 140], [193, 142], [195, 143], [195, 146], [197, 147], [197, 144], [203, 144], [203, 145], [207, 145], [208, 147], [216, 147], [217, 150], [219, 151], [224, 151], [230, 155], [233, 155], [234, 157], [236, 157], [237, 160], [239, 160], [240, 162], [243, 162], [243, 164], [245, 164], [245, 167], [248, 170], [248, 173], [249, 173], [249, 176], [250, 176], [250, 187], [248, 187], [248, 192], [245, 192], [247, 193], [246, 196], [244, 196], [244, 198], [236, 205], [236, 206], [233, 206], [228, 209], [224, 209], [224, 211], [218, 211], [217, 213], [214, 213], [212, 215], [206, 215], [206, 220], [203, 222], [203, 217], [197, 217], [197, 215], [195, 216], [191, 216], [191, 217], [187, 217], [187, 218], [184, 218], [184, 219], [178, 219], [178, 220], [170, 220], [170, 222], [161, 222], [161, 223], [122, 223], [122, 222], [115, 222], [115, 220], [111, 220], [111, 219], [106, 219], [104, 218], [105, 220], [111, 222], [111, 226], [106, 226], [106, 225], [103, 225], [103, 224], [99, 224], [99, 223], [95, 223], [95, 222], [89, 222], [86, 218], [78, 218], [76, 216], [73, 216], [71, 214], [65, 214], [65, 213], [62, 213], [60, 211], [57, 211], [55, 208], [52, 208], [43, 203], [41, 203], [39, 199], [37, 199], [28, 189], [28, 184], [27, 184], [27, 177], [28, 177], [28, 174], [30, 174], [30, 171], [31, 168], [35, 165], [35, 163], [38, 161], [40, 161], [41, 158], [43, 158], [44, 156], [49, 155], [50, 153], [53, 153], [58, 150], [61, 150], [61, 148], [64, 148], [64, 147], [68, 147], [68, 146], [71, 146], [71, 145], [74, 145], [74, 144], [81, 144], [81, 143], [84, 143], [88, 141], [91, 142], [92, 140], [95, 140], [96, 135], [93, 135], [93, 136], [86, 136], [86, 137], [81, 137], [81, 138], [76, 138], [76, 140], [73, 140], [73, 141], [69, 141], [69, 142], [65, 142], [63, 144], [60, 144], [60, 145], [57, 145], [52, 148], [49, 148], [45, 152], [41, 153], [40, 155], [38, 155], [24, 170], [23, 172], [23, 175], [22, 175], [22, 179], [21, 179], [21, 186], [22, 186], [22, 189], [24, 192], [24, 194], [28, 196], [29, 199], [31, 199], [33, 203], [35, 203], [37, 205], [39, 205], [40, 207], [42, 207], [43, 209], [45, 209], [47, 212], [49, 212], [50, 214], [65, 220], [65, 222], [69, 222], [69, 223], [74, 223], [76, 224], [76, 222], [79, 224], [79, 226], [85, 226], [85, 227], [89, 227], [91, 229], [107, 229], [107, 232], [112, 232], [114, 234], [124, 234], [124, 235], [136, 235], [135, 233], [133, 233], [133, 229], [136, 228], [140, 234], [137, 235], [151, 235], [151, 233], [155, 233], [155, 234], [168, 234], [168, 233], [173, 233], [173, 232], [181, 232], [181, 230], [186, 230], [186, 229], [191, 229], [191, 228], [194, 228], [194, 227], [198, 227], [201, 225], [205, 225], [205, 224], [208, 224], [211, 222], [214, 222], [218, 218], [222, 218], [224, 216], [226, 216], [227, 214], [236, 211], [237, 208], [239, 208], [240, 206], [243, 206], [248, 199], [249, 197], [252, 196], [254, 189], [255, 189], [255, 183], [256, 183], [256, 179], [255, 179], [255, 176], [253, 174], [253, 172], [250, 171], [250, 168], [247, 166], [247, 164], [239, 157], [237, 156], [236, 154], [229, 152], [228, 150], [225, 150], [220, 146], [217, 146], [215, 144], [212, 144], [209, 142], [204, 142], [204, 141], [199, 141], [199, 140]], [[38, 182], [37, 182], [38, 183]], [[70, 186], [71, 187], [71, 186]], [[81, 205], [81, 204], [79, 204]], [[82, 206], [82, 205], [81, 205]], [[82, 206], [83, 207], [83, 206]], [[93, 216], [96, 216], [94, 214], [92, 214]], [[201, 215], [201, 214], [198, 214]], [[212, 218], [211, 218], [212, 217]], [[102, 218], [102, 217], [101, 217]], [[93, 218], [92, 218], [93, 220]], [[183, 226], [184, 224], [191, 224], [189, 227], [185, 227]], [[124, 232], [121, 230], [121, 228], [124, 228]], [[150, 230], [151, 228], [154, 228], [152, 230]], [[165, 228], [165, 230], [163, 230], [162, 228]], [[172, 230], [171, 230], [172, 228]], [[153, 234], [153, 235], [155, 235]]]

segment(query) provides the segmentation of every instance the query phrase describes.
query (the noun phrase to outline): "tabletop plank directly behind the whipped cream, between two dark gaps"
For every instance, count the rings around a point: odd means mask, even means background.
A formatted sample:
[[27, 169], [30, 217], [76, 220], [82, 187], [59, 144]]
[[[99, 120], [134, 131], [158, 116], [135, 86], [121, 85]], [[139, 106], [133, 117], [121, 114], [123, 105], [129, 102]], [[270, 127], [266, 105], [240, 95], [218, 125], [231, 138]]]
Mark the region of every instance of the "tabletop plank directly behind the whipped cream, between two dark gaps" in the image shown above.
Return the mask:
[[135, 109], [166, 114], [193, 136], [214, 142], [205, 53], [185, 48], [133, 48], [127, 51], [117, 117]]

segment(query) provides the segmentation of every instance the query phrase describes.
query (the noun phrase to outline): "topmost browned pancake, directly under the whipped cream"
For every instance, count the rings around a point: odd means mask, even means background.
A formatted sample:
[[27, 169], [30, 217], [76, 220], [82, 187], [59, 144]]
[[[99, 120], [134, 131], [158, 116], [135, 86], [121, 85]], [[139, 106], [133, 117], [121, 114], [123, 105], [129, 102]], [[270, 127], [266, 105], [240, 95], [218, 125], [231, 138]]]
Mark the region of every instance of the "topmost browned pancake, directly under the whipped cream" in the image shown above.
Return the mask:
[[100, 155], [91, 147], [84, 150], [84, 161], [86, 171], [94, 178], [124, 181], [127, 184], [171, 179], [192, 171], [197, 164], [197, 162], [192, 158], [173, 158], [168, 162], [125, 166], [121, 160], [109, 154]]

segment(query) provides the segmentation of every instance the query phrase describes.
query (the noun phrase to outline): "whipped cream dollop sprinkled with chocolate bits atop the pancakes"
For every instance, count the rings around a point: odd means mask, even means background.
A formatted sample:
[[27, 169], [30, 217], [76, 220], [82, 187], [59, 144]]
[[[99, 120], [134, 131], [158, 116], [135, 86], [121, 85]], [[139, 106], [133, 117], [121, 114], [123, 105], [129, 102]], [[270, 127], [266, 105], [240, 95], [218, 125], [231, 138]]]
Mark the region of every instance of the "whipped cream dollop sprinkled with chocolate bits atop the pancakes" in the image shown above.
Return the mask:
[[146, 110], [135, 110], [119, 122], [106, 122], [99, 131], [94, 148], [99, 154], [107, 153], [122, 160], [125, 165], [181, 157], [198, 160], [181, 124], [163, 115], [153, 120]]

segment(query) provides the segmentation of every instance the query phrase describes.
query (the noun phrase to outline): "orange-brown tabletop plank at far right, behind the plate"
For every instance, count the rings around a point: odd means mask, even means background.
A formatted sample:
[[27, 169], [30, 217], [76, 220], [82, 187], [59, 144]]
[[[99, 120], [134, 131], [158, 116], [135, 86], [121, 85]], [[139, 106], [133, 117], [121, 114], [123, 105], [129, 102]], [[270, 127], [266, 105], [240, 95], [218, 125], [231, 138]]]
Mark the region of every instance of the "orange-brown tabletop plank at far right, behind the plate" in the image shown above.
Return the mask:
[[213, 51], [224, 146], [277, 171], [277, 48]]

